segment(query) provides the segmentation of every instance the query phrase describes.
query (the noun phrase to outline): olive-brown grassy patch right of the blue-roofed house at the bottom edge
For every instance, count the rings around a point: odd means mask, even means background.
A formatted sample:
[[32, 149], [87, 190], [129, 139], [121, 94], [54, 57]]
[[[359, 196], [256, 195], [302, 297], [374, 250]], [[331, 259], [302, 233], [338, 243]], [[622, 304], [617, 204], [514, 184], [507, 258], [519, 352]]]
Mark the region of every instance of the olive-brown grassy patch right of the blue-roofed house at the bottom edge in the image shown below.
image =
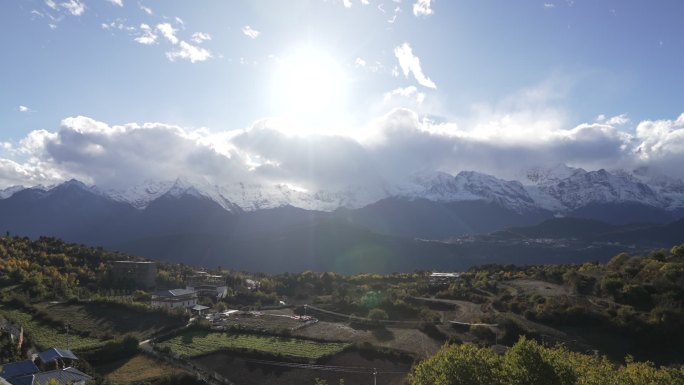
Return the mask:
[[138, 354], [129, 359], [98, 366], [96, 370], [112, 384], [130, 384], [167, 375], [184, 373], [171, 365]]

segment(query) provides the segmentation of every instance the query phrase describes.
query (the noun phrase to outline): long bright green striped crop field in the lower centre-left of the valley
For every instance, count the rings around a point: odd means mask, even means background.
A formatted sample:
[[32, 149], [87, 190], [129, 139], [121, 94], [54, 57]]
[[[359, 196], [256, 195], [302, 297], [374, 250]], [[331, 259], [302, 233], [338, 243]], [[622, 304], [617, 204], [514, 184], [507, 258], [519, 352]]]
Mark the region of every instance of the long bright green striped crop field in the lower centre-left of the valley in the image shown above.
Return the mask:
[[249, 349], [284, 356], [317, 359], [341, 352], [350, 344], [255, 334], [188, 330], [159, 345], [161, 347], [168, 346], [174, 353], [184, 357], [199, 356], [220, 349]]

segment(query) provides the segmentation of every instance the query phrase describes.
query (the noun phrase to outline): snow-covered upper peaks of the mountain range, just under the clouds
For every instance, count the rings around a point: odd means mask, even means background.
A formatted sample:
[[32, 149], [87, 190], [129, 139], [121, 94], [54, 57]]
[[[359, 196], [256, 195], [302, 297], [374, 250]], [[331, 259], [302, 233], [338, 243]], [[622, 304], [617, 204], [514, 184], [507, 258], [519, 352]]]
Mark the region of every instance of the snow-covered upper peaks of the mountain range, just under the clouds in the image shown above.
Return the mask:
[[[196, 178], [148, 181], [126, 189], [100, 189], [78, 181], [56, 187], [34, 189], [51, 191], [77, 187], [141, 210], [161, 197], [194, 196], [216, 202], [229, 212], [258, 211], [284, 206], [306, 210], [335, 211], [359, 209], [386, 198], [426, 199], [433, 202], [486, 201], [523, 214], [548, 211], [558, 215], [592, 204], [638, 204], [670, 212], [684, 210], [684, 182], [653, 176], [644, 170], [627, 172], [586, 171], [566, 165], [526, 171], [517, 180], [503, 180], [474, 171], [456, 176], [444, 172], [422, 172], [393, 184], [345, 186], [336, 189], [305, 189], [291, 184], [231, 183], [216, 185]], [[24, 188], [0, 190], [6, 199]]]

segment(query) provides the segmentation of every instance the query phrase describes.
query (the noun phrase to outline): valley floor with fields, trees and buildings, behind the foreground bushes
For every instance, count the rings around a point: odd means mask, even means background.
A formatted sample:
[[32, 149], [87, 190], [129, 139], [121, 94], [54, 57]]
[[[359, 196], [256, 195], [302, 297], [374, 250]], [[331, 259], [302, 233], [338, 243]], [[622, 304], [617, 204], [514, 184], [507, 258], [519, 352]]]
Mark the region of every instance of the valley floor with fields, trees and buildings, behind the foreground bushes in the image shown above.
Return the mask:
[[[21, 329], [13, 357], [68, 348], [79, 370], [103, 383], [186, 376], [209, 384], [349, 383], [368, 381], [375, 370], [378, 383], [400, 384], [445, 343], [504, 352], [520, 338], [599, 355], [619, 370], [628, 355], [682, 364], [676, 301], [684, 246], [619, 253], [607, 263], [487, 264], [437, 274], [210, 269], [202, 274], [221, 277], [226, 295], [200, 298], [206, 307], [191, 314], [149, 301], [160, 289], [183, 287], [196, 267], [157, 263], [156, 288], [147, 291], [112, 276], [111, 261], [136, 261], [125, 254], [54, 238], [0, 241], [4, 346]], [[143, 362], [174, 369], [143, 370]]]

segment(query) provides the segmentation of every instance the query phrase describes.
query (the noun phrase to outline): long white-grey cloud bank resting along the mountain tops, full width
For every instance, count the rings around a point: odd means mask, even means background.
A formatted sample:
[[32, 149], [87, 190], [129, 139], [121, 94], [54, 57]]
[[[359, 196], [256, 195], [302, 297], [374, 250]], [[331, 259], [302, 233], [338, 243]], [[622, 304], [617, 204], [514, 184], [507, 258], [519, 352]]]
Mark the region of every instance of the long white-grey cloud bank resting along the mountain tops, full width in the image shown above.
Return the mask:
[[[415, 91], [398, 90], [397, 94]], [[35, 130], [0, 148], [0, 187], [77, 178], [102, 187], [193, 176], [215, 184], [292, 183], [308, 189], [391, 182], [420, 171], [476, 170], [512, 178], [533, 167], [634, 169], [684, 177], [684, 114], [646, 120], [628, 133], [624, 119], [564, 128], [496, 114], [480, 122], [436, 122], [395, 109], [368, 124], [364, 139], [289, 135], [271, 120], [232, 131], [162, 123], [110, 125], [83, 116]], [[498, 119], [498, 120], [497, 120]], [[612, 122], [610, 124], [609, 122]]]

